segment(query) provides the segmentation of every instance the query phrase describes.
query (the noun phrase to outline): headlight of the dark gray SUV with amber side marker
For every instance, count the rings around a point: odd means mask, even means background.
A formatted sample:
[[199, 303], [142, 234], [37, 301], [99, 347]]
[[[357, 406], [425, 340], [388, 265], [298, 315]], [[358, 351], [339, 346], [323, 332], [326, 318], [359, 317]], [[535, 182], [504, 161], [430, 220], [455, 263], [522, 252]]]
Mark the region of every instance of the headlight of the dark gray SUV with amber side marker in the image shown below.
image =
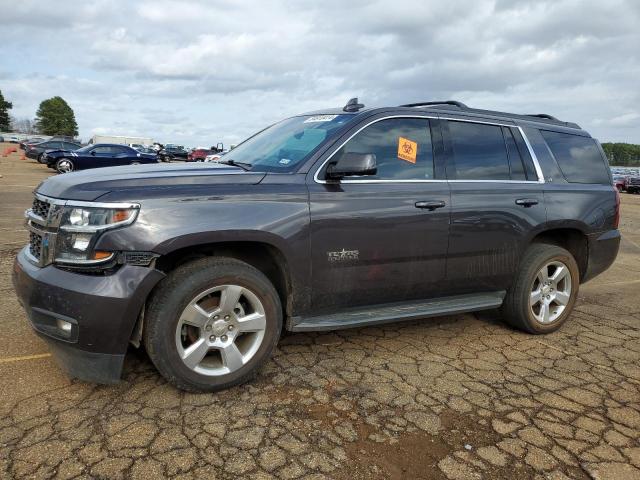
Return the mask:
[[113, 252], [94, 250], [100, 233], [132, 224], [139, 208], [138, 205], [127, 208], [65, 206], [56, 244], [56, 262], [94, 264], [110, 260]]

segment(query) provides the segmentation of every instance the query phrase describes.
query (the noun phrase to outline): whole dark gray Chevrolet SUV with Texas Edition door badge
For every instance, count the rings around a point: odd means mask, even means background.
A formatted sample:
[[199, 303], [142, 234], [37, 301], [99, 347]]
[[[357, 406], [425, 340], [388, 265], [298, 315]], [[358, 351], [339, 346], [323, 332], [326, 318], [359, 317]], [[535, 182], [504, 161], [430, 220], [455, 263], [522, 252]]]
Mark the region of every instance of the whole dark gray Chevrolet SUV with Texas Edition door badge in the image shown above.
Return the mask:
[[353, 99], [217, 163], [44, 181], [13, 278], [70, 375], [117, 381], [144, 344], [168, 381], [212, 391], [251, 378], [283, 328], [500, 308], [552, 332], [616, 258], [618, 216], [602, 149], [573, 123]]

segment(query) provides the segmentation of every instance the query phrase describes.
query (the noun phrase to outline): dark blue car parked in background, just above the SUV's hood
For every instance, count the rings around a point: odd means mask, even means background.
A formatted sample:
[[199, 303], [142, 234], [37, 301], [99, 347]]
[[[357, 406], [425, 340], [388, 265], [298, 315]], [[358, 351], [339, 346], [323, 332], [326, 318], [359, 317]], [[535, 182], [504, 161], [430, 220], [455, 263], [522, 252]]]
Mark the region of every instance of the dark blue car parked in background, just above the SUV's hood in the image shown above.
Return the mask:
[[87, 145], [74, 152], [65, 150], [47, 152], [44, 158], [47, 166], [54, 168], [58, 173], [89, 168], [158, 162], [156, 154], [141, 153], [126, 145], [109, 143]]

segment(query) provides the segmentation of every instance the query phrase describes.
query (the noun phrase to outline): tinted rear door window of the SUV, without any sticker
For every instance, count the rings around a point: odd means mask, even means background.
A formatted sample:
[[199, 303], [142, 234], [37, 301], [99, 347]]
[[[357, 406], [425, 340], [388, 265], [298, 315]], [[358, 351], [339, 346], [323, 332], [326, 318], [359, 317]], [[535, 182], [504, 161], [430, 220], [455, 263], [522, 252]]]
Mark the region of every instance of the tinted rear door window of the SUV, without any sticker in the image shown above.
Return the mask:
[[456, 179], [510, 179], [509, 158], [500, 127], [449, 121], [449, 132]]

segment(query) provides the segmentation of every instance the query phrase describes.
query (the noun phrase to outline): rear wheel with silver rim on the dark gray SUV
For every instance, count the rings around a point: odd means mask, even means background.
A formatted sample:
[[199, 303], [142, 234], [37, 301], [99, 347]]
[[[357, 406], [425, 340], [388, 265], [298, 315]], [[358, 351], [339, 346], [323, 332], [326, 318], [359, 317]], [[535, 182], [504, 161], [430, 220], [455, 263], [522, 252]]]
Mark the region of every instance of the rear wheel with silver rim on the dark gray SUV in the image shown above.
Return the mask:
[[[564, 276], [562, 270], [556, 270], [560, 266], [566, 268]], [[544, 267], [550, 285], [541, 281]], [[556, 273], [561, 279], [554, 283]], [[528, 333], [554, 332], [571, 314], [579, 285], [580, 272], [571, 253], [556, 245], [535, 243], [520, 262], [519, 272], [502, 304], [502, 315], [510, 325]], [[542, 298], [538, 300], [539, 297]], [[543, 304], [547, 305], [546, 310]]]

